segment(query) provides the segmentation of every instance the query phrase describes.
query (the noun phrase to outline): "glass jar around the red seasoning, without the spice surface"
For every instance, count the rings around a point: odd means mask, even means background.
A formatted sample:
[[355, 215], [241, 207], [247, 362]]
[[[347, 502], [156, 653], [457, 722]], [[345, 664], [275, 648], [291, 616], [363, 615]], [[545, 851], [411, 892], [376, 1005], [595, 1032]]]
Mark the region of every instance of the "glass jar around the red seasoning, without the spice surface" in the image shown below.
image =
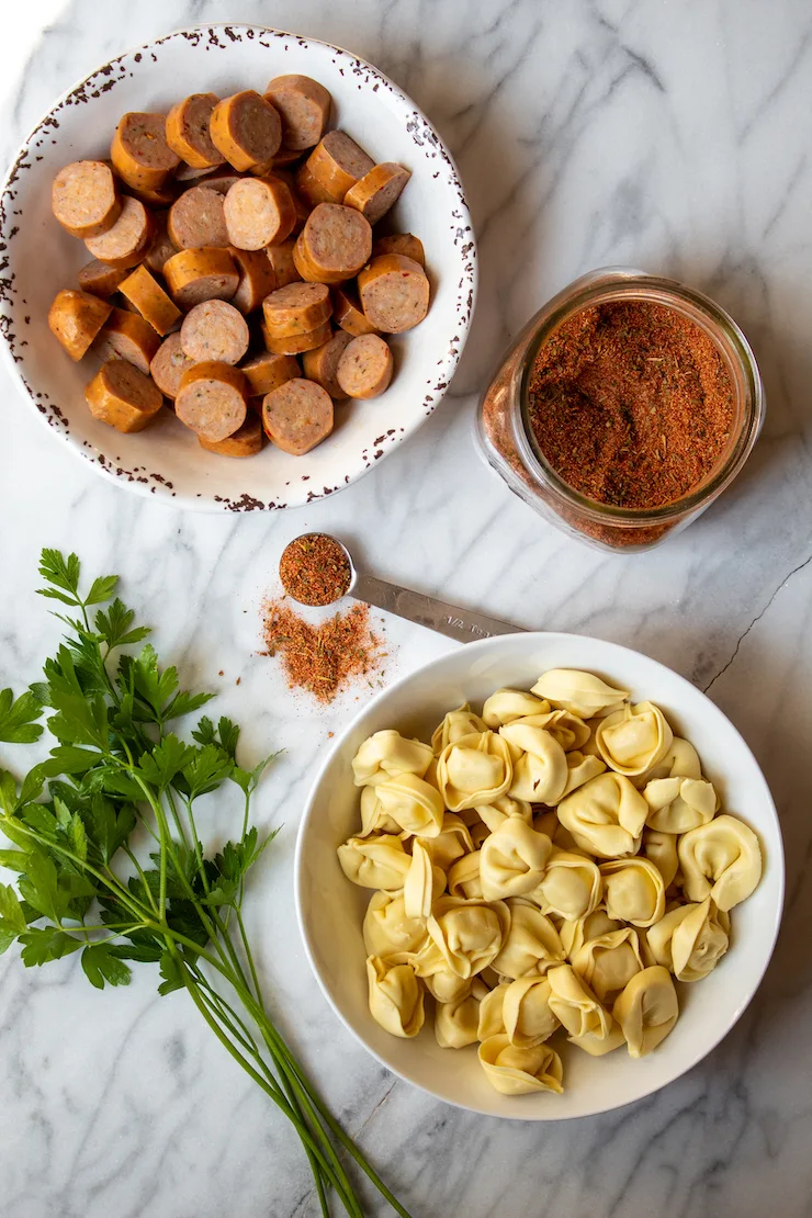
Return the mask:
[[[722, 356], [733, 389], [733, 426], [724, 452], [688, 495], [659, 508], [618, 508], [581, 495], [545, 460], [527, 413], [527, 384], [536, 356], [556, 326], [583, 308], [632, 300], [676, 309], [701, 326]], [[752, 451], [763, 418], [765, 391], [756, 357], [723, 308], [673, 279], [605, 267], [576, 279], [527, 323], [482, 396], [477, 438], [485, 458], [510, 490], [547, 520], [598, 549], [628, 554], [659, 546], [684, 529], [730, 485]]]

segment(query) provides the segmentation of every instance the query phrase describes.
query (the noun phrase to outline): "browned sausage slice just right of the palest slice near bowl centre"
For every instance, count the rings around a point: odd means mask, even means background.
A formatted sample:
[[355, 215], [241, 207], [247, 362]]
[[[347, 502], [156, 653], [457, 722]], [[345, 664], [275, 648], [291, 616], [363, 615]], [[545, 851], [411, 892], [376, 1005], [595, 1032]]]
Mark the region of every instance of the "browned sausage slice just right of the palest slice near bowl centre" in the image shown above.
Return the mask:
[[293, 261], [308, 283], [340, 284], [357, 275], [371, 252], [373, 230], [360, 212], [319, 203], [297, 238]]

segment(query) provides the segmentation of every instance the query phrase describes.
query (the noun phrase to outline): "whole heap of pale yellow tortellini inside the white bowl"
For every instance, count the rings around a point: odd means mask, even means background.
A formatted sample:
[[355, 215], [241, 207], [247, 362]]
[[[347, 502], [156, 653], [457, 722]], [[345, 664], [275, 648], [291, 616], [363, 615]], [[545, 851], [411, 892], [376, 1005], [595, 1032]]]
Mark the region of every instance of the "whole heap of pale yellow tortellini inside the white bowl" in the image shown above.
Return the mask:
[[370, 1013], [407, 1039], [429, 1013], [505, 1095], [554, 1102], [561, 1045], [655, 1050], [761, 878], [693, 743], [590, 672], [464, 703], [431, 743], [376, 732], [352, 770], [359, 828], [337, 854], [373, 889]]

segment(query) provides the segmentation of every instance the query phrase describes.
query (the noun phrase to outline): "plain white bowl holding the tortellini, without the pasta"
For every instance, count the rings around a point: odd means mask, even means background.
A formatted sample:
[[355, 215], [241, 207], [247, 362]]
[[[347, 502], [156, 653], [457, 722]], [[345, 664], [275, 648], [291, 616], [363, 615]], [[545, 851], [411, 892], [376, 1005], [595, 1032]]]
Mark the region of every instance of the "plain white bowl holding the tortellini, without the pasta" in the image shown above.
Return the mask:
[[[414, 1040], [388, 1035], [366, 1005], [362, 920], [369, 890], [351, 884], [336, 847], [359, 825], [359, 790], [349, 762], [371, 732], [397, 727], [429, 739], [447, 710], [472, 705], [502, 686], [530, 688], [550, 667], [582, 667], [662, 706], [676, 732], [699, 749], [726, 809], [761, 839], [765, 870], [752, 896], [732, 914], [728, 954], [705, 980], [678, 985], [681, 1017], [648, 1057], [623, 1049], [589, 1057], [565, 1047], [565, 1093], [505, 1096], [493, 1090], [476, 1049], [439, 1049], [433, 1029]], [[296, 899], [313, 971], [330, 1005], [380, 1062], [437, 1099], [488, 1116], [525, 1121], [586, 1117], [639, 1100], [690, 1069], [737, 1022], [755, 994], [773, 951], [784, 894], [778, 817], [758, 765], [738, 731], [713, 703], [661, 664], [615, 643], [577, 635], [509, 635], [469, 643], [381, 693], [347, 728], [315, 780], [299, 828]], [[430, 1022], [430, 1021], [429, 1021]]]

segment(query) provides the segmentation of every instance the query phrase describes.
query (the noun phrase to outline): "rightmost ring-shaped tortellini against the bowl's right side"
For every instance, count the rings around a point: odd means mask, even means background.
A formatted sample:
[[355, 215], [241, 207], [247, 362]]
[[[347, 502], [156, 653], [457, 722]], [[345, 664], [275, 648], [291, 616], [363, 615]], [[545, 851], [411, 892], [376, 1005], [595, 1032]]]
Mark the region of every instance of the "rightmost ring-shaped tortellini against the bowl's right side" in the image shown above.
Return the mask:
[[679, 838], [677, 853], [688, 898], [710, 896], [723, 912], [750, 896], [761, 879], [758, 838], [735, 816], [716, 816], [690, 829]]

